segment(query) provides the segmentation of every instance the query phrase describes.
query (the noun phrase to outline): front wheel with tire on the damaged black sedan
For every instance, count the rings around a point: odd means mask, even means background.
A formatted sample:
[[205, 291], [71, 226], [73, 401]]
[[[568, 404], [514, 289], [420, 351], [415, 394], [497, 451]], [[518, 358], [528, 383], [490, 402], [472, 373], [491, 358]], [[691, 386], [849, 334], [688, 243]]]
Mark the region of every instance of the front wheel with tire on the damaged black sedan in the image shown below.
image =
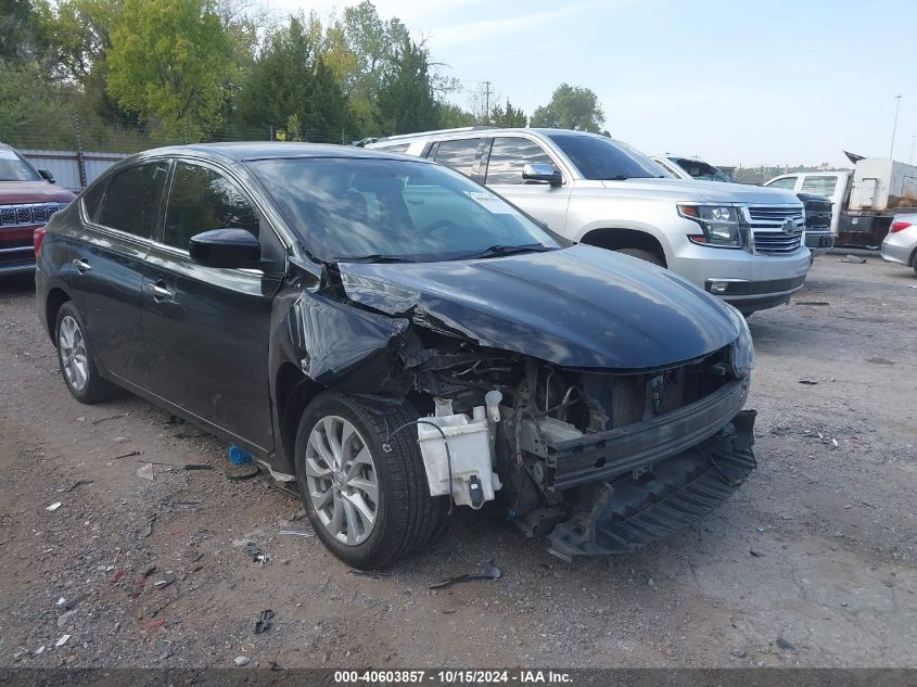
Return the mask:
[[403, 409], [370, 410], [331, 392], [303, 414], [300, 494], [316, 534], [349, 565], [387, 565], [425, 544], [442, 522], [447, 502], [430, 496], [417, 431], [391, 434], [412, 419]]

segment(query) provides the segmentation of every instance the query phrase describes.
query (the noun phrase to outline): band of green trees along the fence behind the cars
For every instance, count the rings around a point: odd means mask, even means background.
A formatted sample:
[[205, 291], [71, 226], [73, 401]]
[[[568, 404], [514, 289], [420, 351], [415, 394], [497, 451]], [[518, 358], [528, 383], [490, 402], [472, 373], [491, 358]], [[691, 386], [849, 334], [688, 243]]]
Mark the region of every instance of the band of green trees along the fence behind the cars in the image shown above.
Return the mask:
[[[0, 140], [136, 151], [162, 143], [346, 142], [479, 123], [521, 127], [459, 81], [371, 0], [269, 20], [251, 0], [0, 0]], [[491, 112], [488, 102], [499, 101]], [[598, 130], [596, 94], [562, 84], [531, 125]]]

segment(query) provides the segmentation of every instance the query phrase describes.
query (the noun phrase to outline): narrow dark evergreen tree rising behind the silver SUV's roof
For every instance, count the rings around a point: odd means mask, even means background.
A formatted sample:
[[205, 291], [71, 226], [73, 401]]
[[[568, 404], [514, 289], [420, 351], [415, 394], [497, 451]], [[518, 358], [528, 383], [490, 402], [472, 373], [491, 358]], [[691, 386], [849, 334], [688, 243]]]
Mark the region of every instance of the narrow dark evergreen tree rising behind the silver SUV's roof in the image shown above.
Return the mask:
[[377, 98], [379, 122], [386, 135], [433, 129], [440, 123], [440, 104], [433, 92], [426, 50], [405, 38], [386, 71]]

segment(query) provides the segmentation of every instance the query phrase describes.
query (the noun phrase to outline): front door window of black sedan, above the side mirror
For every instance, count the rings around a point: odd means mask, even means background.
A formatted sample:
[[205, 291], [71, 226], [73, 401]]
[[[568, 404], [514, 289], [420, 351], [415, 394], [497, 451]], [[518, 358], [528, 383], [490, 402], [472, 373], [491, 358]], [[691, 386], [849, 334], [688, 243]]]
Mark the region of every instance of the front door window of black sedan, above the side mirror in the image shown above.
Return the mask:
[[191, 237], [211, 229], [245, 229], [258, 236], [259, 218], [239, 188], [220, 173], [188, 162], [175, 166], [163, 242], [188, 250]]

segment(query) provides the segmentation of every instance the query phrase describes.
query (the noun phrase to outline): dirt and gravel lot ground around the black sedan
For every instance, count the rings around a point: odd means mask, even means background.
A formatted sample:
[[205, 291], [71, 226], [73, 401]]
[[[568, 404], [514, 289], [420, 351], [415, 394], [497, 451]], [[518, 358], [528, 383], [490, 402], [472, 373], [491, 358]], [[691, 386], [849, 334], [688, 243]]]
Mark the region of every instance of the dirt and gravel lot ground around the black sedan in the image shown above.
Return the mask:
[[[700, 526], [569, 565], [497, 513], [460, 513], [371, 578], [279, 534], [305, 521], [270, 480], [182, 469], [221, 467], [219, 442], [132, 396], [74, 400], [29, 280], [5, 281], [0, 665], [915, 666], [914, 287], [829, 255], [751, 318], [760, 469]], [[428, 589], [487, 560], [501, 580]]]

